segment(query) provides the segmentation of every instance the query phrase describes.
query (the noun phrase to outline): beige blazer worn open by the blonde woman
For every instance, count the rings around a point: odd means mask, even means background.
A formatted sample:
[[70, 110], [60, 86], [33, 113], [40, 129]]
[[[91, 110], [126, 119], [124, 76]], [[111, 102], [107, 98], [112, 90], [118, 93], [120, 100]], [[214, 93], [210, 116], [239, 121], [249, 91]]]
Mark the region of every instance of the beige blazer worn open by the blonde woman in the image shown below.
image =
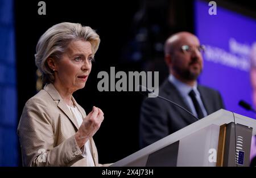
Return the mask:
[[[86, 116], [84, 109], [73, 103]], [[24, 106], [18, 125], [23, 166], [86, 166], [75, 140], [78, 129], [76, 118], [61, 99], [53, 84], [29, 99]], [[98, 154], [91, 138], [91, 152], [96, 166]]]

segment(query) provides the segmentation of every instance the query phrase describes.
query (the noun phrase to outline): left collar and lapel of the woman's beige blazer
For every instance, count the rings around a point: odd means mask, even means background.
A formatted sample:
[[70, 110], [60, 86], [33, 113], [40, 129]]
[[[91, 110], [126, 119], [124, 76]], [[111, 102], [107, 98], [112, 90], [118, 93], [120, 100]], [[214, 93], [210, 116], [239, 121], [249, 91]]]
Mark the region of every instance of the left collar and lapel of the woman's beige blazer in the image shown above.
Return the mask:
[[69, 111], [67, 105], [64, 103], [63, 99], [61, 98], [59, 92], [56, 90], [56, 88], [53, 86], [52, 83], [47, 84], [44, 87], [44, 90], [48, 92], [48, 94], [52, 97], [53, 100], [59, 100], [59, 103], [57, 104], [57, 107], [60, 108], [61, 111], [65, 113], [65, 115], [71, 120], [73, 125], [75, 125], [76, 129], [79, 129], [79, 126], [77, 124], [76, 119], [72, 116], [71, 112]]

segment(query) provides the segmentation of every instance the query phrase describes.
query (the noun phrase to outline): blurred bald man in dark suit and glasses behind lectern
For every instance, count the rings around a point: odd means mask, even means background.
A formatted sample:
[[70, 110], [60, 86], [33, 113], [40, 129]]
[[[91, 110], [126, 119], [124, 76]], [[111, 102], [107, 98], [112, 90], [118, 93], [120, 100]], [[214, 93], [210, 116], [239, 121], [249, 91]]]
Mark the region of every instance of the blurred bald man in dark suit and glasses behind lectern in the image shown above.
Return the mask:
[[[164, 49], [170, 75], [159, 88], [160, 96], [181, 105], [199, 119], [224, 108], [218, 91], [197, 84], [203, 70], [203, 51], [204, 47], [192, 33], [170, 36]], [[150, 145], [195, 121], [189, 113], [165, 100], [147, 98], [141, 108], [140, 146]]]

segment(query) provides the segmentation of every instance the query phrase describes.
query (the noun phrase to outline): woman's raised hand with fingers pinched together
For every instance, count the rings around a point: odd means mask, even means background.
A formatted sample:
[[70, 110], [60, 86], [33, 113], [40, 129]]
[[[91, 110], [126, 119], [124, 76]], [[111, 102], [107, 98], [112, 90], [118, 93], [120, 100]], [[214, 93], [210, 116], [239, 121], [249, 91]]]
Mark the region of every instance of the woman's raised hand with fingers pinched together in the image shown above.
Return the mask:
[[84, 118], [82, 124], [75, 134], [77, 145], [81, 148], [86, 141], [97, 132], [104, 120], [104, 113], [100, 108], [93, 107], [93, 110]]

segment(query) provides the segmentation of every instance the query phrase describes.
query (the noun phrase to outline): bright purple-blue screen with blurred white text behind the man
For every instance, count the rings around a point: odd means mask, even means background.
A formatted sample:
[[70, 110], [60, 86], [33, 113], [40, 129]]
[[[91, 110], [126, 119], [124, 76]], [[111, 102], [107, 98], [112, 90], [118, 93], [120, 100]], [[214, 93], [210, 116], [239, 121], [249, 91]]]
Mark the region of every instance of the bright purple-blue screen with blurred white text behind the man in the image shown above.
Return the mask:
[[209, 15], [207, 2], [195, 1], [195, 28], [206, 46], [199, 82], [219, 90], [226, 109], [254, 118], [238, 106], [242, 99], [253, 104], [250, 84], [250, 49], [256, 41], [256, 20], [222, 8]]

